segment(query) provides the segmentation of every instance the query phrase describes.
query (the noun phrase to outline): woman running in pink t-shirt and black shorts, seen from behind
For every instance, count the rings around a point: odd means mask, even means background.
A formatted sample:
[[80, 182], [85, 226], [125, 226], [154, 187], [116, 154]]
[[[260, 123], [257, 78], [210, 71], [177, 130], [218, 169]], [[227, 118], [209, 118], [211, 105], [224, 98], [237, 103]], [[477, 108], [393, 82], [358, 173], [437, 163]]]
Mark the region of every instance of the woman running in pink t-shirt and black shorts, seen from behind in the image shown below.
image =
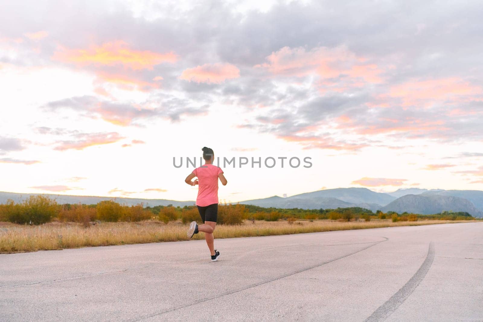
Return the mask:
[[[205, 164], [194, 169], [186, 177], [185, 182], [189, 185], [199, 185], [196, 206], [204, 224], [199, 226], [196, 222], [191, 222], [186, 235], [188, 238], [192, 238], [199, 231], [204, 232], [206, 243], [212, 255], [212, 262], [216, 262], [220, 257], [220, 252], [217, 252], [213, 246], [213, 231], [218, 216], [218, 178], [223, 185], [227, 185], [227, 179], [223, 175], [223, 170], [212, 164], [214, 160], [213, 150], [206, 146], [202, 150]], [[194, 177], [198, 177], [198, 179], [191, 181]]]

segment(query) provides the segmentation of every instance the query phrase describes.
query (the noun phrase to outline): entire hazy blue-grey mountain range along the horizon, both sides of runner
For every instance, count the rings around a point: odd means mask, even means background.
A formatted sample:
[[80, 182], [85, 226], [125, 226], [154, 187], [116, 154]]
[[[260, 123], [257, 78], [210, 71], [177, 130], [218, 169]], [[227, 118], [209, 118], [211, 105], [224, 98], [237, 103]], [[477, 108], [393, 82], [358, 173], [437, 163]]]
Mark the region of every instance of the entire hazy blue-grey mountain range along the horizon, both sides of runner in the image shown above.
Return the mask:
[[[16, 194], [0, 192], [0, 203], [8, 199], [19, 202], [28, 196], [39, 194]], [[176, 201], [167, 199], [113, 198], [100, 196], [69, 196], [42, 194], [55, 198], [57, 203], [96, 204], [102, 200], [115, 200], [126, 205], [143, 203], [144, 206], [175, 207], [191, 206], [195, 201]], [[337, 188], [307, 192], [290, 197], [271, 196], [263, 199], [241, 201], [241, 204], [274, 208], [336, 209], [361, 207], [372, 211], [382, 210], [433, 214], [441, 211], [465, 211], [475, 217], [483, 217], [483, 191], [479, 190], [442, 190], [442, 189], [399, 189], [391, 193], [379, 193], [367, 188]]]

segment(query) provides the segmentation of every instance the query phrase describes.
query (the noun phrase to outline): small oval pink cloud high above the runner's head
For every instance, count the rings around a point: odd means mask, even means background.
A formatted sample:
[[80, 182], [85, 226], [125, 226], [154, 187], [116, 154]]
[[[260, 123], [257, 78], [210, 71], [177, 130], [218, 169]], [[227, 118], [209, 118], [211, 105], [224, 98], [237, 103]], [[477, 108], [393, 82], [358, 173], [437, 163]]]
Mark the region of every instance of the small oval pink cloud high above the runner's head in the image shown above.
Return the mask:
[[195, 68], [183, 70], [180, 79], [190, 82], [221, 84], [227, 79], [240, 77], [240, 70], [231, 64], [204, 64]]

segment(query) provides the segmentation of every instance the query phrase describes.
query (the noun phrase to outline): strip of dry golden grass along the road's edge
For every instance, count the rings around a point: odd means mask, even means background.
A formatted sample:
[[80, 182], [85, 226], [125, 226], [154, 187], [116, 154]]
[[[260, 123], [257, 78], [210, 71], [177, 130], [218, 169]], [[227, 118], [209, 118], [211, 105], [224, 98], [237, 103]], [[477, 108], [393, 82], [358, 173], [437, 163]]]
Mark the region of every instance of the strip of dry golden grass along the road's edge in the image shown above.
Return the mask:
[[[370, 222], [333, 222], [330, 220], [265, 222], [246, 221], [240, 225], [218, 225], [215, 238], [286, 235], [332, 230], [445, 224], [469, 221], [423, 220], [396, 222], [390, 219]], [[160, 221], [139, 223], [102, 223], [85, 228], [76, 223], [49, 223], [38, 226], [0, 223], [0, 253], [60, 250], [86, 246], [139, 244], [160, 241], [186, 240], [187, 225], [181, 222], [164, 224]], [[203, 239], [204, 234], [193, 239]]]

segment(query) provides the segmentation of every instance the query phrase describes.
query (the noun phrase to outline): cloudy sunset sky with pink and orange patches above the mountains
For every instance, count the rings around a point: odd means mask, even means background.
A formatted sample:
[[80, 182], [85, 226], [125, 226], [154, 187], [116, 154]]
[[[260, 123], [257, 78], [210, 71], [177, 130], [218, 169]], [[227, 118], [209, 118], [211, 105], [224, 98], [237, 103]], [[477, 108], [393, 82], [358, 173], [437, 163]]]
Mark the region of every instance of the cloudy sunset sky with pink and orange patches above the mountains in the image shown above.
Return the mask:
[[185, 158], [203, 146], [236, 158], [227, 202], [483, 190], [482, 14], [476, 0], [2, 2], [0, 191], [194, 200]]

